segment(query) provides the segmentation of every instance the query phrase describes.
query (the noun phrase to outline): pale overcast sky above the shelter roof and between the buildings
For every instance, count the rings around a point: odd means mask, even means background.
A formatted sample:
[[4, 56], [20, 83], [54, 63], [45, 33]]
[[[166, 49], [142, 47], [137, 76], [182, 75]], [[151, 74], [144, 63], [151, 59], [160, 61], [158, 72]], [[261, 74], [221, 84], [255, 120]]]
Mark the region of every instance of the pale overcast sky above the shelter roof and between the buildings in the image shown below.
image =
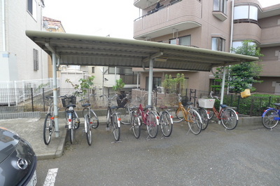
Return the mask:
[[[279, 0], [258, 0], [263, 7]], [[133, 39], [139, 8], [133, 0], [45, 0], [43, 16], [62, 21], [66, 33]]]

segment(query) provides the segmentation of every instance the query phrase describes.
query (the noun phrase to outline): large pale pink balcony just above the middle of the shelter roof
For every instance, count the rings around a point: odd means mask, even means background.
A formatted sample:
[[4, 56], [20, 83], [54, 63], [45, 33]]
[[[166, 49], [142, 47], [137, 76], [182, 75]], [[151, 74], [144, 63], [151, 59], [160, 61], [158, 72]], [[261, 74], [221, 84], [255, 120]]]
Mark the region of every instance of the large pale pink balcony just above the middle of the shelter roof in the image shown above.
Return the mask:
[[169, 4], [159, 11], [134, 20], [134, 39], [147, 40], [158, 36], [201, 27], [202, 4], [185, 0]]

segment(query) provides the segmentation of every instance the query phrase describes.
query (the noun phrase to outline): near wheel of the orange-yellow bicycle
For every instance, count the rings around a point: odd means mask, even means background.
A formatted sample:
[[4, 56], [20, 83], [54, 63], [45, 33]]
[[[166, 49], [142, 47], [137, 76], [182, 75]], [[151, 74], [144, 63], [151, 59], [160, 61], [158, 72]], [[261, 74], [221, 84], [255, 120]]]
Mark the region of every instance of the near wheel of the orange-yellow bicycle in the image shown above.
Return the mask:
[[202, 131], [202, 119], [195, 109], [188, 110], [188, 126], [195, 135]]

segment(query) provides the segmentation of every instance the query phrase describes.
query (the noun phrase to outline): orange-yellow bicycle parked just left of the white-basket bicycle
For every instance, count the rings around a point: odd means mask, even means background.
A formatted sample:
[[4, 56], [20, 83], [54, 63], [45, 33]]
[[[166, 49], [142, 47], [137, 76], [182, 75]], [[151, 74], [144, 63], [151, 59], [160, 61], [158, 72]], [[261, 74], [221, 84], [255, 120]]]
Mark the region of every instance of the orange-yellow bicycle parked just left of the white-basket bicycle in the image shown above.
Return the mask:
[[190, 131], [195, 135], [202, 131], [202, 119], [200, 114], [193, 109], [193, 102], [186, 102], [187, 108], [182, 104], [181, 94], [178, 94], [178, 108], [176, 109], [176, 117], [179, 121], [187, 121]]

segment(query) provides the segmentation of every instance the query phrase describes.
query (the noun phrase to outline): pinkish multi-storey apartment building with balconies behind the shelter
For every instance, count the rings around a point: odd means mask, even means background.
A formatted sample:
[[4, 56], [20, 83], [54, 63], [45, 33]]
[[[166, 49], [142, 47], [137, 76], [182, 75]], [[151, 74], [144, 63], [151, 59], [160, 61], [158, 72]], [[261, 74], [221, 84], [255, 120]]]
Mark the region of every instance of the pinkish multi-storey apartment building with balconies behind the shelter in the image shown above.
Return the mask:
[[[215, 51], [230, 52], [241, 41], [252, 39], [265, 55], [262, 84], [257, 91], [275, 93], [280, 82], [279, 50], [280, 4], [262, 8], [256, 0], [134, 0], [141, 16], [134, 20], [134, 39], [179, 44]], [[145, 88], [148, 73], [141, 73], [141, 88]], [[167, 72], [154, 72], [154, 87], [160, 86]], [[185, 88], [209, 91], [214, 84], [211, 72], [180, 72], [185, 74]], [[280, 91], [279, 91], [280, 92]]]

